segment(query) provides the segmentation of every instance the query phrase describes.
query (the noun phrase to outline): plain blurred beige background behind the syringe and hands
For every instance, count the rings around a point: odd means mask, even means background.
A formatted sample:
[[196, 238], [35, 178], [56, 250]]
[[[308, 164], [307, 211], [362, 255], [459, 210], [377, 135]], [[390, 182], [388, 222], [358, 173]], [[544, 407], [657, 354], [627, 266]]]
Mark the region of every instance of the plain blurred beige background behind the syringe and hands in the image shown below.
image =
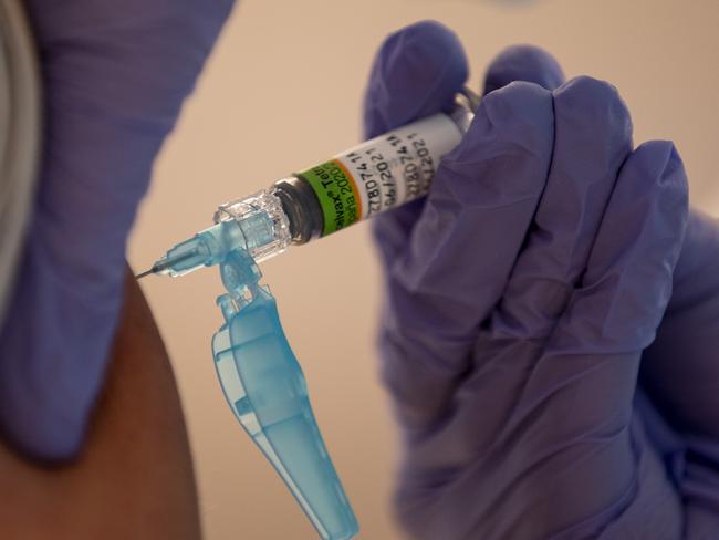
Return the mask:
[[[208, 226], [217, 204], [357, 142], [376, 46], [425, 18], [459, 33], [475, 86], [490, 59], [517, 42], [546, 48], [569, 75], [613, 82], [633, 112], [636, 141], [676, 141], [694, 202], [719, 215], [716, 0], [246, 0], [159, 159], [132, 263], [145, 267]], [[288, 252], [263, 271], [362, 538], [396, 538], [388, 499], [397, 445], [375, 376], [381, 291], [368, 229]], [[208, 540], [314, 538], [221, 396], [210, 355], [220, 325], [217, 270], [148, 278], [143, 287], [177, 371]]]

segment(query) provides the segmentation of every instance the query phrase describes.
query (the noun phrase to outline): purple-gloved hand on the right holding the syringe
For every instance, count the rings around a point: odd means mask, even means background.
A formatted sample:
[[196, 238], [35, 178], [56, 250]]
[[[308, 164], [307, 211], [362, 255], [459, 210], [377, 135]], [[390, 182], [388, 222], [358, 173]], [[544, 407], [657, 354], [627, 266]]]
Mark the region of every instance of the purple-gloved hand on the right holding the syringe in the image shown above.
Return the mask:
[[[467, 72], [437, 23], [389, 37], [366, 136], [448, 107]], [[633, 148], [614, 87], [507, 50], [428, 197], [374, 232], [414, 537], [716, 537], [719, 227], [688, 214], [670, 143]]]

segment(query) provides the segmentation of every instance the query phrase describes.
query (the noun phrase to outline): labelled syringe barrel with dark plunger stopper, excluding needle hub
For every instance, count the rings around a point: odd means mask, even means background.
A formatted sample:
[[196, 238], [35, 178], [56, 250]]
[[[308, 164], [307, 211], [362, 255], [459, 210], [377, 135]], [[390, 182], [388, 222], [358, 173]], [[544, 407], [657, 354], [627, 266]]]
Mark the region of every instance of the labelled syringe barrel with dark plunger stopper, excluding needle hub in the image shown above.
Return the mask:
[[427, 194], [440, 159], [461, 141], [472, 107], [458, 103], [278, 180], [292, 243], [305, 243]]

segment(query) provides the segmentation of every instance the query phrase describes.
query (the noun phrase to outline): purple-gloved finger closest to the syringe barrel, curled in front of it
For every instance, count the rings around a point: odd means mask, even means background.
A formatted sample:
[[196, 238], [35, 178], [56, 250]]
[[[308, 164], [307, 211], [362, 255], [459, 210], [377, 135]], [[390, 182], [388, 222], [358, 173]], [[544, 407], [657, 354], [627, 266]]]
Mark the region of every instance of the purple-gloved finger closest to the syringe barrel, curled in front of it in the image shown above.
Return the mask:
[[437, 419], [467, 368], [544, 188], [553, 134], [544, 89], [513, 83], [487, 95], [385, 269], [382, 370], [405, 427]]

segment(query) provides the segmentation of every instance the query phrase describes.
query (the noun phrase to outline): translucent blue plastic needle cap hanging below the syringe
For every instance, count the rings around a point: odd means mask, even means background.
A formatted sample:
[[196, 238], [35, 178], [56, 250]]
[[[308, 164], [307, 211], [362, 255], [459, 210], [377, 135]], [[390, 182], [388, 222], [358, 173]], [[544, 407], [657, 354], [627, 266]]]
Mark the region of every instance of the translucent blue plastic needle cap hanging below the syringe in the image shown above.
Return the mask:
[[244, 429], [288, 485], [320, 537], [345, 540], [357, 520], [332, 465], [308, 399], [304, 375], [272, 295], [257, 287], [236, 311], [220, 297], [227, 323], [212, 340], [225, 396]]

